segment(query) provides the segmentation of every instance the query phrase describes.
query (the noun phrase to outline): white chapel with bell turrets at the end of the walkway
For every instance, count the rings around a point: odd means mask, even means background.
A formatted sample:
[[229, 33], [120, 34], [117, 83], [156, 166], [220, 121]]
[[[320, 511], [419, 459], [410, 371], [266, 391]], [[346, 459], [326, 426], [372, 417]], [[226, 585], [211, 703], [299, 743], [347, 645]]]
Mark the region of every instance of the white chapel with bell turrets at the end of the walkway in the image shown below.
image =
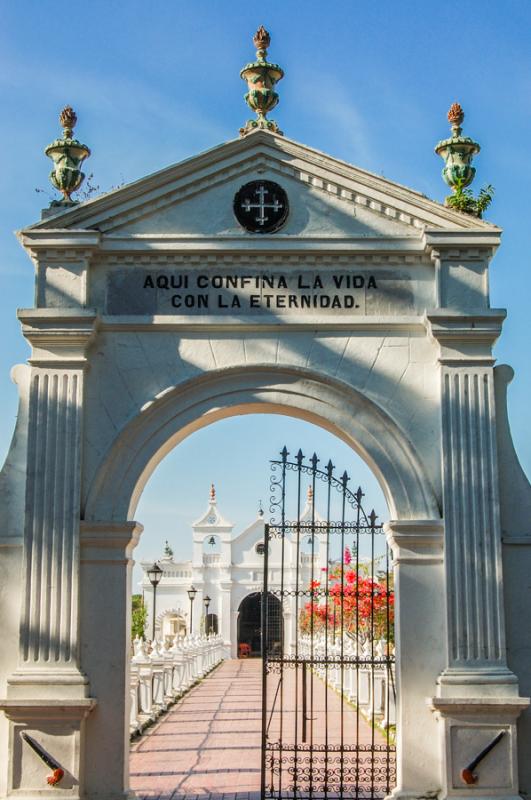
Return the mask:
[[[293, 592], [297, 561], [299, 587], [319, 579], [326, 568], [326, 534], [319, 532], [324, 522], [313, 508], [313, 494], [309, 487], [301, 523], [314, 520], [315, 533], [305, 531], [297, 542], [287, 537], [284, 541], [284, 583], [281, 587], [282, 546], [280, 538], [273, 536], [268, 553], [269, 615], [273, 638], [284, 636], [285, 651], [289, 652], [296, 633], [296, 612]], [[175, 561], [171, 543], [166, 543], [164, 556], [157, 562], [162, 577], [156, 589], [155, 636], [182, 636], [189, 633], [212, 632], [223, 636], [226, 654], [236, 658], [247, 652], [259, 655], [261, 647], [261, 592], [264, 579], [264, 529], [265, 521], [260, 508], [256, 519], [241, 533], [234, 534], [234, 525], [218, 508], [216, 490], [212, 485], [208, 506], [192, 525], [193, 551], [191, 561]], [[313, 542], [312, 542], [313, 538]], [[313, 551], [313, 552], [312, 552]], [[140, 562], [143, 576], [141, 590], [148, 609], [146, 632], [153, 630], [153, 587], [148, 570], [152, 561]], [[188, 590], [196, 594], [190, 600]], [[281, 603], [281, 596], [283, 602]], [[205, 598], [210, 598], [207, 605]], [[272, 623], [273, 619], [276, 625]], [[276, 631], [276, 632], [275, 632]], [[270, 645], [275, 644], [275, 641]]]

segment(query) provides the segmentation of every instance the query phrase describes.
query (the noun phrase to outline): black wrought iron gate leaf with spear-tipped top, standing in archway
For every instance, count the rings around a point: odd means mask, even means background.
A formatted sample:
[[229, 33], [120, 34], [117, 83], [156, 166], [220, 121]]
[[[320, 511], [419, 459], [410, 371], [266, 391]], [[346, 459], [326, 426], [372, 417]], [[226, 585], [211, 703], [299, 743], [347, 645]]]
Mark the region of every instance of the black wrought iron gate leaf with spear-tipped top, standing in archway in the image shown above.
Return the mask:
[[[262, 798], [381, 798], [395, 783], [390, 556], [361, 488], [299, 450], [271, 461], [262, 602]], [[305, 493], [307, 496], [305, 499]], [[278, 629], [278, 623], [277, 629]]]

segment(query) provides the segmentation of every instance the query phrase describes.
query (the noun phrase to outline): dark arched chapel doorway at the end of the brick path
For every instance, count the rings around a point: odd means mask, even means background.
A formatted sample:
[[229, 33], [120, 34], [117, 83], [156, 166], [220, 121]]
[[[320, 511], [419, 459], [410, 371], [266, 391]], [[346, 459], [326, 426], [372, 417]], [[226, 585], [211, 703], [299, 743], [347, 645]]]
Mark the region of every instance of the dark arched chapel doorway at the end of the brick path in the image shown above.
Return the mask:
[[[282, 607], [278, 597], [267, 595], [268, 641], [271, 653], [282, 647], [284, 625]], [[262, 593], [253, 592], [244, 597], [238, 609], [238, 655], [257, 658], [262, 652]]]

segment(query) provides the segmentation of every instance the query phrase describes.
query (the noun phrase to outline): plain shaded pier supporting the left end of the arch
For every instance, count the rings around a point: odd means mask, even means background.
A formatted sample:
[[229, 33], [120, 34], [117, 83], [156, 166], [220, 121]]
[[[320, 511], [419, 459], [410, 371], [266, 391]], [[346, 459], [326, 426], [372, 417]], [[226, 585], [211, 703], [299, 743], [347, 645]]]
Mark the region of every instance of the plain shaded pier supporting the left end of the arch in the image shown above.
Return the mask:
[[81, 525], [81, 665], [98, 699], [85, 730], [86, 798], [101, 796], [102, 776], [109, 800], [128, 793], [132, 551], [141, 532], [136, 522]]

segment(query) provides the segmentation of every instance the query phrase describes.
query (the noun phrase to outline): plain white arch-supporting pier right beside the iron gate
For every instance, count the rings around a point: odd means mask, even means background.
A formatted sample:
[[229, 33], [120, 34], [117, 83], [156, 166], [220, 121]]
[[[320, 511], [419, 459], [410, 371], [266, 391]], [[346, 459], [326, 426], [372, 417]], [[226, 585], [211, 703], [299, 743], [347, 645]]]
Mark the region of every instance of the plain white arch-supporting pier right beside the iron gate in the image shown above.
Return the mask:
[[384, 525], [393, 553], [397, 692], [397, 780], [393, 796], [430, 796], [440, 789], [433, 693], [446, 651], [442, 520]]

